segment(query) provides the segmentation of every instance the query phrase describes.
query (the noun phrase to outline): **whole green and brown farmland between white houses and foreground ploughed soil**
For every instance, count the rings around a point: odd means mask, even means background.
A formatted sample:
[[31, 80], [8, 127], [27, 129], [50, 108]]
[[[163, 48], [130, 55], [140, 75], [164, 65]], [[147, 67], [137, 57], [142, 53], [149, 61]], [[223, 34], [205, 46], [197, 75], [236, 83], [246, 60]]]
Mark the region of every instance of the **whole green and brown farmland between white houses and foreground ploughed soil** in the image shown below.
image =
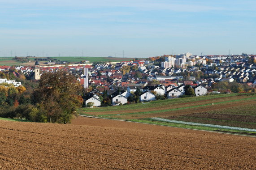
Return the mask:
[[[100, 118], [126, 119], [141, 123], [224, 132], [223, 129], [219, 128], [166, 123], [148, 118], [161, 117], [187, 122], [256, 129], [255, 103], [256, 93], [233, 93], [107, 108], [83, 108], [81, 111], [84, 115]], [[225, 130], [225, 132], [247, 133], [234, 130]], [[249, 132], [248, 134], [255, 136], [254, 132]]]

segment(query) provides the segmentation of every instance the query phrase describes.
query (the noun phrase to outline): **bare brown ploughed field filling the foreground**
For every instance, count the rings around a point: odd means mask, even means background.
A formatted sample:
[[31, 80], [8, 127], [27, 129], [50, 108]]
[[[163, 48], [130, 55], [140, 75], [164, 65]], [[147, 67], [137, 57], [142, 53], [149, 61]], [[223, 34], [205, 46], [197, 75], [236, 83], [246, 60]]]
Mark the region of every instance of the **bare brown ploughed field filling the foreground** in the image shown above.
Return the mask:
[[256, 169], [253, 137], [84, 117], [72, 123], [0, 120], [0, 167]]

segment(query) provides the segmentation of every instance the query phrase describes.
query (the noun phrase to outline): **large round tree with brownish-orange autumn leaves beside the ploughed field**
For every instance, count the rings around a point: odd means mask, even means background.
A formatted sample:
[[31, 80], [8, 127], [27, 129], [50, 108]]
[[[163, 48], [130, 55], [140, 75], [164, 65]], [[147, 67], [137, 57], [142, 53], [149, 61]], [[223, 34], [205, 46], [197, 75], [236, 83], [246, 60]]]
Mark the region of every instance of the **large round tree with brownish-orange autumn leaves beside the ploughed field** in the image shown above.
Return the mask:
[[35, 89], [32, 102], [44, 110], [48, 122], [69, 123], [76, 110], [82, 107], [82, 86], [76, 77], [65, 70], [44, 73]]

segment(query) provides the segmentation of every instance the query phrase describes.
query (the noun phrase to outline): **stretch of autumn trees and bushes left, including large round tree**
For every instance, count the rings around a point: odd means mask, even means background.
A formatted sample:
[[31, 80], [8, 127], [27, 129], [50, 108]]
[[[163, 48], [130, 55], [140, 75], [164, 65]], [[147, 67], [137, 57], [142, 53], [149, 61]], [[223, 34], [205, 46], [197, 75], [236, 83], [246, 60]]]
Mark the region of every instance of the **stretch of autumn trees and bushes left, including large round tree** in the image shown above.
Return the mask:
[[[23, 85], [31, 85], [26, 81]], [[32, 82], [32, 81], [31, 81]], [[33, 84], [33, 83], [32, 83]], [[68, 71], [57, 70], [41, 76], [35, 89], [0, 84], [0, 117], [33, 122], [69, 123], [82, 107], [83, 88]]]

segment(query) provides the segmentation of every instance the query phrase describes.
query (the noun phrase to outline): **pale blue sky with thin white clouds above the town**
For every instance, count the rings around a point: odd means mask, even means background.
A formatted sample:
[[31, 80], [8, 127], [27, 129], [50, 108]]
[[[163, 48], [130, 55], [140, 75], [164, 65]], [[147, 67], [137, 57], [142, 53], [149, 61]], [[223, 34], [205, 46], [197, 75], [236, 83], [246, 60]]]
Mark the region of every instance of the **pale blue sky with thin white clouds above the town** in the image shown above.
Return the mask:
[[256, 0], [0, 0], [0, 56], [256, 53]]

